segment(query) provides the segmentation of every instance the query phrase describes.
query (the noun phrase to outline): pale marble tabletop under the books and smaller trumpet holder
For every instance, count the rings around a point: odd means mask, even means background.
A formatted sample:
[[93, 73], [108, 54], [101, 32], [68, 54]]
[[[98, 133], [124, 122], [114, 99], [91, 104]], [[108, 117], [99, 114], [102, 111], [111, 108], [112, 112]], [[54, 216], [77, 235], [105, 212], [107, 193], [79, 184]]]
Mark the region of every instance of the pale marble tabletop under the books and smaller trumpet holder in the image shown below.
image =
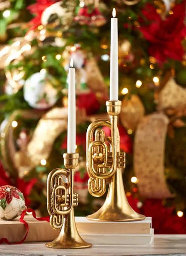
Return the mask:
[[[109, 243], [109, 241], [108, 241]], [[155, 235], [154, 244], [146, 246], [98, 246], [87, 249], [50, 249], [45, 243], [0, 245], [0, 256], [186, 256], [186, 235]]]

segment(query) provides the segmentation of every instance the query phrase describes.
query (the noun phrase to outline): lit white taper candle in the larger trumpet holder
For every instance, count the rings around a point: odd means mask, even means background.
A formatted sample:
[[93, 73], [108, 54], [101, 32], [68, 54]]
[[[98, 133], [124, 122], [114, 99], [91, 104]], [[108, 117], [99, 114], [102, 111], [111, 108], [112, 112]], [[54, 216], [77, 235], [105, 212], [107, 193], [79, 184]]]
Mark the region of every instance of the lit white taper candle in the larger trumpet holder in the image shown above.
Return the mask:
[[118, 19], [112, 11], [110, 27], [110, 100], [118, 100]]

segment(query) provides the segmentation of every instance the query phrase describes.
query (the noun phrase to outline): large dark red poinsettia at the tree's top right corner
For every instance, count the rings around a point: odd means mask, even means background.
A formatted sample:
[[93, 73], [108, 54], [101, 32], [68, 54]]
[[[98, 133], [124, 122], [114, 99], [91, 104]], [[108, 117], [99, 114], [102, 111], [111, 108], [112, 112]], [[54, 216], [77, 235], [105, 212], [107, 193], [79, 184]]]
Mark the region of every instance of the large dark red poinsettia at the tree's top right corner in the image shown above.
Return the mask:
[[[167, 59], [181, 61], [184, 55], [182, 40], [186, 37], [185, 1], [175, 5], [173, 14], [162, 19], [152, 4], [142, 10], [139, 30], [150, 43], [149, 54], [160, 63]], [[148, 24], [147, 24], [148, 21]]]

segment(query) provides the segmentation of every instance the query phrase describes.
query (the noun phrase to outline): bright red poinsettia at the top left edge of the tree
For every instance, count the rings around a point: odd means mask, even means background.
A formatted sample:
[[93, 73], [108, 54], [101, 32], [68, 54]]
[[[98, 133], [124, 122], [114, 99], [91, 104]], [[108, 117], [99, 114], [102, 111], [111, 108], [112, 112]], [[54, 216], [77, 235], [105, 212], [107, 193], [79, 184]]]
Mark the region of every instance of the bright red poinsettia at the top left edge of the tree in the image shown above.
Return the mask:
[[30, 13], [35, 15], [35, 17], [29, 22], [29, 25], [31, 26], [30, 30], [34, 30], [41, 25], [42, 12], [55, 2], [57, 2], [57, 0], [36, 0], [35, 4], [28, 6]]

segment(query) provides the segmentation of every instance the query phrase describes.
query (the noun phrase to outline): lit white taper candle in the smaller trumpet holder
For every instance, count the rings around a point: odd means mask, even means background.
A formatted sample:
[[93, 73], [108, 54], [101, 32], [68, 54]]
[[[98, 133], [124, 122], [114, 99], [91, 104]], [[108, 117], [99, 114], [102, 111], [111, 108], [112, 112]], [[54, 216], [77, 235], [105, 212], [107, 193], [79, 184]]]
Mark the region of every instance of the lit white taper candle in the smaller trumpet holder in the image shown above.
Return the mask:
[[76, 153], [76, 79], [73, 59], [68, 72], [68, 135], [67, 153]]

